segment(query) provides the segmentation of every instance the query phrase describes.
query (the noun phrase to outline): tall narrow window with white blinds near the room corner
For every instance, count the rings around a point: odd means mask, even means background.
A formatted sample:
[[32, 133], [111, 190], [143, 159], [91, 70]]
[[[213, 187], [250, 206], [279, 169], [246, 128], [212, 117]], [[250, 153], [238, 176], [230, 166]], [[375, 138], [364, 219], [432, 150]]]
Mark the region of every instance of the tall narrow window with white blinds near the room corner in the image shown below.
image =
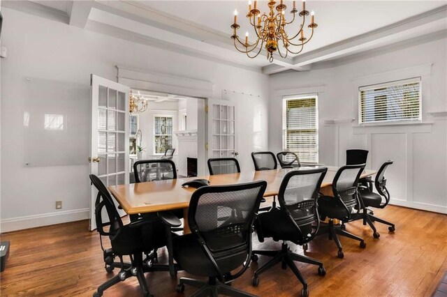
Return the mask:
[[296, 153], [301, 162], [318, 162], [317, 96], [283, 99], [283, 149]]

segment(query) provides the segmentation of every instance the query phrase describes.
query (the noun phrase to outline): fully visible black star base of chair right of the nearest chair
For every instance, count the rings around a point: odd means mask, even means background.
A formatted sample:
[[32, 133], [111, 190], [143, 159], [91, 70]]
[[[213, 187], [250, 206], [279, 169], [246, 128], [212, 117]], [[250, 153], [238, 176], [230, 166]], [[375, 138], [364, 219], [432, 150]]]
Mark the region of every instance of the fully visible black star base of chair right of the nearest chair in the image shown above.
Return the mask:
[[[295, 274], [295, 276], [298, 278], [298, 280], [302, 284], [302, 296], [307, 296], [309, 292], [307, 291], [307, 282], [304, 277], [302, 277], [300, 271], [298, 270], [298, 267], [295, 265], [294, 261], [299, 261], [302, 263], [312, 264], [318, 266], [318, 275], [325, 275], [326, 271], [323, 267], [323, 263], [321, 261], [318, 261], [316, 259], [312, 259], [310, 257], [303, 256], [301, 254], [295, 254], [288, 248], [287, 243], [284, 241], [281, 245], [281, 250], [254, 250], [253, 254], [256, 256], [256, 254], [261, 254], [264, 256], [273, 257], [268, 263], [264, 264], [261, 268], [258, 268], [258, 270], [255, 271], [254, 277], [252, 280], [252, 284], [255, 287], [258, 287], [259, 284], [259, 275], [261, 273], [267, 271], [268, 269], [272, 268], [276, 264], [281, 263], [281, 268], [286, 269], [287, 266], [291, 268], [291, 271]], [[252, 257], [252, 259], [256, 260], [256, 257]]]

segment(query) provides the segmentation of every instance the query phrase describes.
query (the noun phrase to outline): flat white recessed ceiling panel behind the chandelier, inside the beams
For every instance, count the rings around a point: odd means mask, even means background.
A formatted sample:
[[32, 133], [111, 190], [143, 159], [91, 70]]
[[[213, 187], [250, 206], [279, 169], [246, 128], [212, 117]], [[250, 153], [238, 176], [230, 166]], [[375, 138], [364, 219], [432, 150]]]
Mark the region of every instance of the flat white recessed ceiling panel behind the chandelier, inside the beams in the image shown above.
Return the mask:
[[[239, 36], [246, 31], [254, 35], [247, 20], [248, 1], [139, 1], [145, 6], [156, 8], [166, 13], [189, 20], [203, 26], [232, 35], [230, 25], [233, 23], [233, 11], [237, 8], [238, 23], [241, 25]], [[252, 1], [253, 2], [253, 1]], [[258, 1], [258, 9], [267, 12], [268, 1]], [[380, 29], [408, 17], [425, 13], [447, 1], [312, 1], [306, 3], [307, 10], [315, 11], [315, 22], [318, 28], [312, 42], [308, 43], [304, 52], [337, 43], [369, 31]], [[289, 12], [291, 0], [284, 0]], [[298, 8], [301, 1], [297, 1]], [[291, 18], [286, 13], [286, 20]], [[297, 22], [297, 20], [295, 20]], [[290, 24], [298, 30], [300, 24]], [[292, 32], [293, 30], [291, 30]], [[296, 33], [296, 31], [294, 31]], [[293, 34], [295, 35], [295, 34]]]

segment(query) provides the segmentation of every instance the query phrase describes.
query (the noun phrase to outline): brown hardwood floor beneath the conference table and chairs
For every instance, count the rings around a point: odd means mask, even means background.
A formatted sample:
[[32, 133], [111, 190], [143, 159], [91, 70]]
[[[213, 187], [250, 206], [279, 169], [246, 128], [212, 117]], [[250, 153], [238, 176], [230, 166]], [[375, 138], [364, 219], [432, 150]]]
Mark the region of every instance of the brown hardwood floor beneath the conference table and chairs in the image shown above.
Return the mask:
[[[432, 296], [447, 271], [447, 215], [388, 206], [375, 214], [395, 222], [395, 233], [376, 224], [379, 239], [361, 222], [347, 230], [365, 238], [367, 247], [341, 238], [344, 259], [336, 257], [335, 243], [325, 236], [309, 243], [307, 255], [323, 261], [327, 274], [318, 276], [316, 266], [298, 264], [309, 283], [311, 296]], [[91, 296], [96, 287], [117, 273], [107, 274], [96, 231], [87, 231], [88, 222], [71, 222], [48, 227], [1, 234], [10, 241], [10, 257], [1, 273], [1, 296]], [[280, 243], [266, 241], [256, 248], [279, 248]], [[291, 247], [299, 253], [302, 249]], [[160, 261], [166, 259], [161, 252]], [[302, 286], [290, 270], [275, 266], [263, 273], [259, 287], [251, 287], [258, 265], [268, 261], [260, 256], [234, 287], [258, 296], [300, 296]], [[179, 272], [179, 277], [187, 273]], [[189, 275], [190, 276], [190, 275]], [[177, 280], [166, 272], [146, 275], [149, 290], [155, 296], [189, 296], [195, 289], [186, 286], [184, 294], [175, 292]], [[135, 277], [116, 284], [104, 296], [141, 296]]]

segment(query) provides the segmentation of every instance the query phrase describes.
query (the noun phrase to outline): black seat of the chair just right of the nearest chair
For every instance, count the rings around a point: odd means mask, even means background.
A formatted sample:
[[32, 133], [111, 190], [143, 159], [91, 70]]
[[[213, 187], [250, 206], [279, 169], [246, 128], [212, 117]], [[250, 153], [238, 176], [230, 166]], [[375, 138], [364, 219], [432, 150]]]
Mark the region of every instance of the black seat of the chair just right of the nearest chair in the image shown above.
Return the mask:
[[[284, 211], [274, 208], [271, 211], [260, 213], [258, 220], [264, 237], [271, 237], [274, 241], [291, 241], [296, 244], [303, 241], [302, 236], [293, 226], [293, 222], [286, 217]], [[299, 227], [302, 234], [312, 232], [312, 224]]]

